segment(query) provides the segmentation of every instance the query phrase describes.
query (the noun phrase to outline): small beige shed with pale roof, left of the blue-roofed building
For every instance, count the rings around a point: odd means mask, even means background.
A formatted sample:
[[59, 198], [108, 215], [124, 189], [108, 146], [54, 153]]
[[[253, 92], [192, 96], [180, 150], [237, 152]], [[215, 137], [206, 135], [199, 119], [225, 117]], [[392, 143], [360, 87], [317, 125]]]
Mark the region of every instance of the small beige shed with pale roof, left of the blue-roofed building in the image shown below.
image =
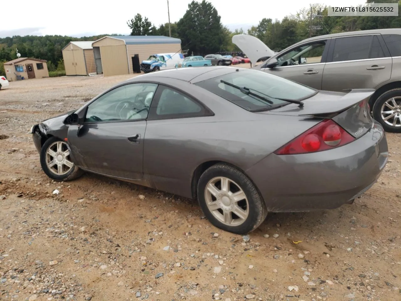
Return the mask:
[[63, 53], [65, 75], [89, 75], [90, 73], [96, 73], [92, 43], [93, 41], [71, 41], [61, 50]]

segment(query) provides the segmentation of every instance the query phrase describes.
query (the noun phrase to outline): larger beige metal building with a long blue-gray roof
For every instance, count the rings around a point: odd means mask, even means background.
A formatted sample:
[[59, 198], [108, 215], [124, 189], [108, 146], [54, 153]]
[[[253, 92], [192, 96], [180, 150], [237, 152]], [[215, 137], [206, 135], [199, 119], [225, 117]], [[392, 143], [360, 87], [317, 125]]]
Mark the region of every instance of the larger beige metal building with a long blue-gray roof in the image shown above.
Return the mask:
[[152, 54], [181, 52], [181, 40], [164, 36], [107, 36], [92, 43], [97, 74], [140, 73]]

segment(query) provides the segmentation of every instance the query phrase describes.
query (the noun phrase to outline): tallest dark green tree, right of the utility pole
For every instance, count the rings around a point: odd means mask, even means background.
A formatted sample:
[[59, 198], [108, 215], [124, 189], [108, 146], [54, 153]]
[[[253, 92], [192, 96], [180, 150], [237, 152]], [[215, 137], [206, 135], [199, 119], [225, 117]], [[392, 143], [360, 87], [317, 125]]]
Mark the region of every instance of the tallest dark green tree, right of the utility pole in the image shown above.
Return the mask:
[[177, 22], [182, 47], [188, 48], [189, 53], [193, 51], [195, 55], [225, 50], [228, 45], [223, 43], [227, 43], [227, 38], [220, 19], [211, 2], [192, 1], [184, 16]]

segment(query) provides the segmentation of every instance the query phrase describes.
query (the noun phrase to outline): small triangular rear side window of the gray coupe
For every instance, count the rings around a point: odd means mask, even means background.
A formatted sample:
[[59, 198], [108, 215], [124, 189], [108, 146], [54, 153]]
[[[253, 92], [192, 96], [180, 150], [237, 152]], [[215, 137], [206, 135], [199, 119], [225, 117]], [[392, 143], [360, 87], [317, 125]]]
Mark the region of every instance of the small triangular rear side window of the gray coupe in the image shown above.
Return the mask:
[[160, 98], [156, 106], [156, 116], [175, 118], [205, 114], [204, 108], [188, 96], [168, 87], [160, 86], [160, 90]]

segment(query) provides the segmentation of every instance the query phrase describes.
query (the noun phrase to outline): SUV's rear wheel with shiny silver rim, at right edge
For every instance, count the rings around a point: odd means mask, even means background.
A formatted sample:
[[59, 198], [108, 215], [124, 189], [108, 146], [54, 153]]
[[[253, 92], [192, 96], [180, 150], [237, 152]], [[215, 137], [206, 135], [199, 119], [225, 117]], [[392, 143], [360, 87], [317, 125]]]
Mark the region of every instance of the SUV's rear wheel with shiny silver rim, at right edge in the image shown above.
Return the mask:
[[386, 132], [401, 133], [401, 89], [392, 89], [379, 96], [372, 112]]

